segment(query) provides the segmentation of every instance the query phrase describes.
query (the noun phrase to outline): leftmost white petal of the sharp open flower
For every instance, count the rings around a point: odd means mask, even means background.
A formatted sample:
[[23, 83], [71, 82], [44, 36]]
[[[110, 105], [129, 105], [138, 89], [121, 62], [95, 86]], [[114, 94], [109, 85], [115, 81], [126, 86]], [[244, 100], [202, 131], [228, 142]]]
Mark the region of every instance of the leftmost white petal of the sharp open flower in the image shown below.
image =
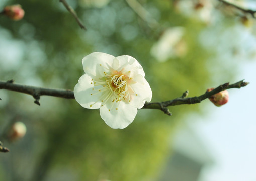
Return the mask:
[[[91, 84], [91, 80], [92, 78], [87, 74], [82, 75], [74, 87], [74, 97], [82, 107], [88, 109], [98, 109], [101, 106], [100, 97], [102, 93], [93, 91], [94, 85]], [[97, 94], [95, 94], [95, 92]], [[92, 106], [90, 107], [90, 105]]]

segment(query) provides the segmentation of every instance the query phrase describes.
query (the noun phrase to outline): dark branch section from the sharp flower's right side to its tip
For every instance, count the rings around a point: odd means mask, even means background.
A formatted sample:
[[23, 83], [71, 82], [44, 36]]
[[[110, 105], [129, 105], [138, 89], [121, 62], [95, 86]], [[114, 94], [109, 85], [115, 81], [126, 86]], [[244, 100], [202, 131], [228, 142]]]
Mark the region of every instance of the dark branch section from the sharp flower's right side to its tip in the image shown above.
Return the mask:
[[182, 97], [169, 100], [169, 101], [163, 101], [163, 102], [151, 102], [151, 103], [145, 103], [143, 108], [149, 108], [149, 109], [159, 109], [162, 110], [165, 114], [171, 115], [169, 110], [167, 109], [168, 106], [176, 106], [176, 105], [182, 105], [182, 104], [196, 104], [200, 103], [201, 101], [205, 100], [206, 98], [210, 98], [212, 95], [215, 95], [221, 91], [224, 91], [226, 89], [230, 88], [241, 88], [246, 85], [248, 85], [248, 82], [244, 82], [243, 80], [229, 85], [229, 83], [225, 83], [223, 85], [218, 86], [217, 88], [213, 89], [210, 92], [206, 92], [205, 94], [198, 96], [198, 97], [188, 97], [185, 98], [183, 93]]

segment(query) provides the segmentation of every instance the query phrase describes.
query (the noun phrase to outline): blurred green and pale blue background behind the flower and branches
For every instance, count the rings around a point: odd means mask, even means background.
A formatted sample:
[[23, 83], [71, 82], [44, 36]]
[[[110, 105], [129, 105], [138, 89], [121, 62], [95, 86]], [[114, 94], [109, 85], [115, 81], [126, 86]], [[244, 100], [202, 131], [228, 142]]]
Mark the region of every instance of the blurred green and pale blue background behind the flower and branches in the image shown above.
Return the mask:
[[[75, 100], [0, 90], [0, 180], [256, 180], [254, 123], [256, 32], [251, 14], [218, 0], [67, 1], [81, 29], [59, 1], [21, 4], [25, 16], [0, 15], [0, 79], [73, 89], [92, 52], [135, 57], [153, 98], [204, 94], [245, 78], [221, 108], [209, 100], [138, 110], [127, 128], [111, 129], [99, 110]], [[254, 1], [229, 1], [256, 10]], [[13, 138], [18, 122], [26, 134]], [[17, 126], [17, 125], [16, 125]], [[23, 136], [23, 135], [22, 135]]]

